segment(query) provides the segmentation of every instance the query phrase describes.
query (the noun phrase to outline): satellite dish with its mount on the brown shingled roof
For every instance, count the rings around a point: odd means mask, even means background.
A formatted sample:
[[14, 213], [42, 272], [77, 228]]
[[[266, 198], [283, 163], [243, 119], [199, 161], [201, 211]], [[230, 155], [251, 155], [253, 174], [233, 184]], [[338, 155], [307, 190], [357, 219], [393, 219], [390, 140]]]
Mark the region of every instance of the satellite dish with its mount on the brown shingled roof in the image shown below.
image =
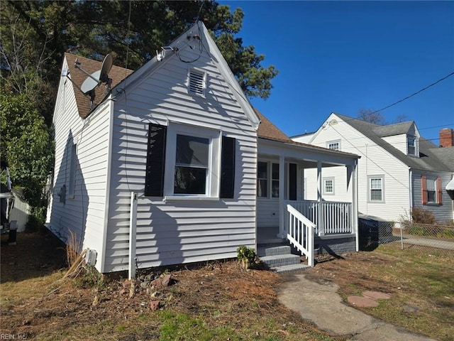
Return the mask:
[[98, 87], [101, 83], [106, 84], [106, 91], [105, 94], [111, 91], [112, 80], [109, 78], [109, 72], [112, 68], [112, 64], [114, 63], [114, 58], [111, 54], [106, 55], [102, 62], [101, 70], [95, 71], [92, 74], [82, 69], [80, 66], [81, 63], [79, 60], [75, 60], [74, 67], [84, 72], [87, 75], [87, 79], [84, 80], [82, 83], [82, 87], [80, 87], [80, 91], [83, 94], [88, 94], [90, 96], [90, 107], [93, 107], [95, 93], [94, 90]]

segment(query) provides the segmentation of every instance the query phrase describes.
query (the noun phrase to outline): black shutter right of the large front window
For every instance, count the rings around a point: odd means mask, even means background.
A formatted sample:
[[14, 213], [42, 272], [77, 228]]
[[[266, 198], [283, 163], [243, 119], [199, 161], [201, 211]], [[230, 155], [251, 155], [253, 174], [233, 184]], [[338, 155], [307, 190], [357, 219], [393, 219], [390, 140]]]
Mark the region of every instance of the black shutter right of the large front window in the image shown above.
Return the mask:
[[222, 136], [221, 188], [219, 197], [233, 198], [235, 190], [235, 149], [236, 139]]

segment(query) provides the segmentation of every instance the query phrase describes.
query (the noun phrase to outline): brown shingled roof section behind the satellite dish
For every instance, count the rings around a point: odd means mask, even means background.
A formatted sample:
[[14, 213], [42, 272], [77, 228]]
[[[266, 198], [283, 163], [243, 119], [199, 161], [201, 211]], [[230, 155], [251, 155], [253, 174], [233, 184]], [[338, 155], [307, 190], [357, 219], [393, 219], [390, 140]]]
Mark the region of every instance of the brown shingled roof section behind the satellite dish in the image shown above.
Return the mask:
[[[76, 97], [79, 116], [82, 117], [82, 119], [85, 119], [90, 114], [90, 112], [92, 112], [92, 110], [106, 98], [107, 95], [105, 93], [106, 88], [104, 86], [99, 85], [94, 89], [95, 96], [93, 107], [90, 107], [89, 95], [83, 94], [82, 91], [80, 90], [84, 80], [87, 79], [87, 75], [85, 75], [85, 73], [82, 72], [82, 70], [79, 70], [77, 69], [77, 67], [75, 67], [75, 61], [77, 59], [77, 61], [80, 63], [80, 67], [82, 67], [82, 69], [84, 71], [87, 71], [89, 74], [101, 70], [102, 63], [99, 62], [98, 60], [80, 57], [78, 55], [73, 55], [71, 53], [65, 53], [65, 59], [68, 65], [67, 77], [70, 78], [72, 84], [77, 88], [74, 89], [74, 95]], [[112, 80], [111, 87], [113, 88], [116, 85], [118, 85], [118, 83], [121, 82], [121, 80], [126, 78], [128, 75], [131, 75], [132, 72], [133, 70], [128, 70], [125, 69], [124, 67], [112, 66], [109, 72], [109, 78], [111, 78]]]

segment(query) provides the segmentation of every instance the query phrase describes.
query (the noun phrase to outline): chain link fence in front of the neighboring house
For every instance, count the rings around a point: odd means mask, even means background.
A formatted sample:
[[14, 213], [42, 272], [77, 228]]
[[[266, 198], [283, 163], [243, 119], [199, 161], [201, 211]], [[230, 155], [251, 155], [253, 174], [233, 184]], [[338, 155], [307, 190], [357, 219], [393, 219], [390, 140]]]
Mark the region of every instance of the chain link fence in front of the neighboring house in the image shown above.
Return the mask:
[[380, 244], [394, 244], [402, 250], [425, 252], [432, 256], [454, 257], [454, 227], [439, 224], [404, 222], [394, 227], [393, 222], [359, 223], [360, 249], [372, 250]]

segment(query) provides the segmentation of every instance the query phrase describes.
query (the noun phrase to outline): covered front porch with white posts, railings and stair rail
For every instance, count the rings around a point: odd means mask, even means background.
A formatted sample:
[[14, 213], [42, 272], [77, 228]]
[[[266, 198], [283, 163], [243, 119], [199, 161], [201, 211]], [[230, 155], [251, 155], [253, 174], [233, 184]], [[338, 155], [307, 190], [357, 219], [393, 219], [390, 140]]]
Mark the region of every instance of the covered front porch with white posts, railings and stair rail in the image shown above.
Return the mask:
[[358, 156], [260, 140], [257, 242], [292, 244], [314, 265], [314, 250], [358, 251]]

